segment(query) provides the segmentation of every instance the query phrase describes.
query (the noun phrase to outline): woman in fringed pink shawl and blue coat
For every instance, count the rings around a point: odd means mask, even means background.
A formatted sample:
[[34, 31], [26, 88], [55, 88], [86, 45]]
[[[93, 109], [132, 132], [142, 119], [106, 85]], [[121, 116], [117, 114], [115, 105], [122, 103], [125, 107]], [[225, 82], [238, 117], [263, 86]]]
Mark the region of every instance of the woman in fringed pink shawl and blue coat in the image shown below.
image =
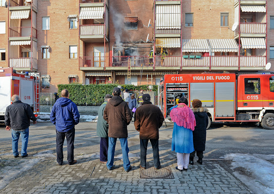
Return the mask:
[[185, 97], [181, 97], [178, 105], [171, 107], [170, 117], [174, 122], [171, 150], [177, 153], [176, 170], [187, 170], [189, 154], [194, 151], [193, 133], [196, 126], [195, 116], [187, 106]]

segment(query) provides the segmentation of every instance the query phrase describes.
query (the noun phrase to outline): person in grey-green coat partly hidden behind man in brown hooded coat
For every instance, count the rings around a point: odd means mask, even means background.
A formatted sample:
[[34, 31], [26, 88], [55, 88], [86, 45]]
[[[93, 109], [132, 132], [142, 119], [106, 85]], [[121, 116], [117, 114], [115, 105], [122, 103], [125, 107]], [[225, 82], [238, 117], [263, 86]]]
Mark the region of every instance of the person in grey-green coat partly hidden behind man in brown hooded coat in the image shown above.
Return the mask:
[[103, 118], [103, 116], [104, 116], [104, 110], [106, 108], [106, 105], [107, 105], [108, 101], [110, 101], [111, 97], [112, 97], [112, 95], [107, 94], [105, 97], [105, 102], [100, 106], [100, 108], [98, 110], [98, 120], [97, 120], [97, 128], [96, 128], [97, 136], [101, 137], [101, 140], [100, 140], [100, 162], [105, 163], [105, 164], [108, 162], [109, 124]]

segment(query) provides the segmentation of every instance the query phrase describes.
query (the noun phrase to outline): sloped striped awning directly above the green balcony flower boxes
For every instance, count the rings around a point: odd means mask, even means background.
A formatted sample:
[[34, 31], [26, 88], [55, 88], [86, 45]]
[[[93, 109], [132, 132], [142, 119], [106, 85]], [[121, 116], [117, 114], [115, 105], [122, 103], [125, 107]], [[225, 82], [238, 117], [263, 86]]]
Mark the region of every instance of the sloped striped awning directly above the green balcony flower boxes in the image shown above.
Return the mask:
[[206, 39], [183, 39], [182, 52], [209, 52]]

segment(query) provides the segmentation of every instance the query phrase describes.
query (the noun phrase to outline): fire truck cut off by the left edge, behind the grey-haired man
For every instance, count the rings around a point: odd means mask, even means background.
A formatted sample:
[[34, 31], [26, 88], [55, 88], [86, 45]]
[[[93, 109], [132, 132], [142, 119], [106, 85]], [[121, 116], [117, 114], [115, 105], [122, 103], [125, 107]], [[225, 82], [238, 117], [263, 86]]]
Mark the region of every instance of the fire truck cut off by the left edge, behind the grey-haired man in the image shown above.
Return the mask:
[[18, 95], [21, 101], [27, 103], [37, 116], [39, 112], [39, 77], [28, 73], [17, 73], [12, 67], [0, 68], [0, 122], [4, 121], [6, 107], [13, 95]]

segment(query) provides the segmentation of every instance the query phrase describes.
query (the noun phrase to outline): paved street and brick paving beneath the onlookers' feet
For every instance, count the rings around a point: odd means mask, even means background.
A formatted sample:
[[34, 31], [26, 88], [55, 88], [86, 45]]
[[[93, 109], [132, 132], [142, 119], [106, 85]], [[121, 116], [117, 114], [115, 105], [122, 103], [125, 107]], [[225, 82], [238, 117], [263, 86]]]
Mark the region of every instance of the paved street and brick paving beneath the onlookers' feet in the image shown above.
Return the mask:
[[[73, 166], [58, 166], [55, 161], [55, 127], [51, 123], [37, 123], [30, 127], [30, 157], [24, 159], [13, 158], [11, 132], [0, 125], [0, 193], [250, 194], [250, 188], [233, 175], [230, 162], [222, 160], [222, 157], [228, 153], [267, 155], [273, 154], [274, 150], [273, 130], [252, 124], [214, 124], [207, 130], [203, 165], [195, 162], [187, 172], [179, 172], [174, 169], [176, 153], [170, 150], [172, 124], [167, 124], [167, 128], [160, 129], [160, 159], [162, 166], [171, 168], [174, 179], [140, 178], [139, 135], [133, 124], [128, 127], [129, 157], [133, 166], [129, 173], [123, 170], [119, 143], [115, 151], [115, 169], [107, 171], [106, 166], [99, 163], [100, 139], [96, 136], [96, 123], [80, 123], [75, 129], [74, 156], [78, 162]], [[66, 151], [64, 153], [66, 158]], [[150, 166], [152, 158], [149, 146], [147, 160]]]

